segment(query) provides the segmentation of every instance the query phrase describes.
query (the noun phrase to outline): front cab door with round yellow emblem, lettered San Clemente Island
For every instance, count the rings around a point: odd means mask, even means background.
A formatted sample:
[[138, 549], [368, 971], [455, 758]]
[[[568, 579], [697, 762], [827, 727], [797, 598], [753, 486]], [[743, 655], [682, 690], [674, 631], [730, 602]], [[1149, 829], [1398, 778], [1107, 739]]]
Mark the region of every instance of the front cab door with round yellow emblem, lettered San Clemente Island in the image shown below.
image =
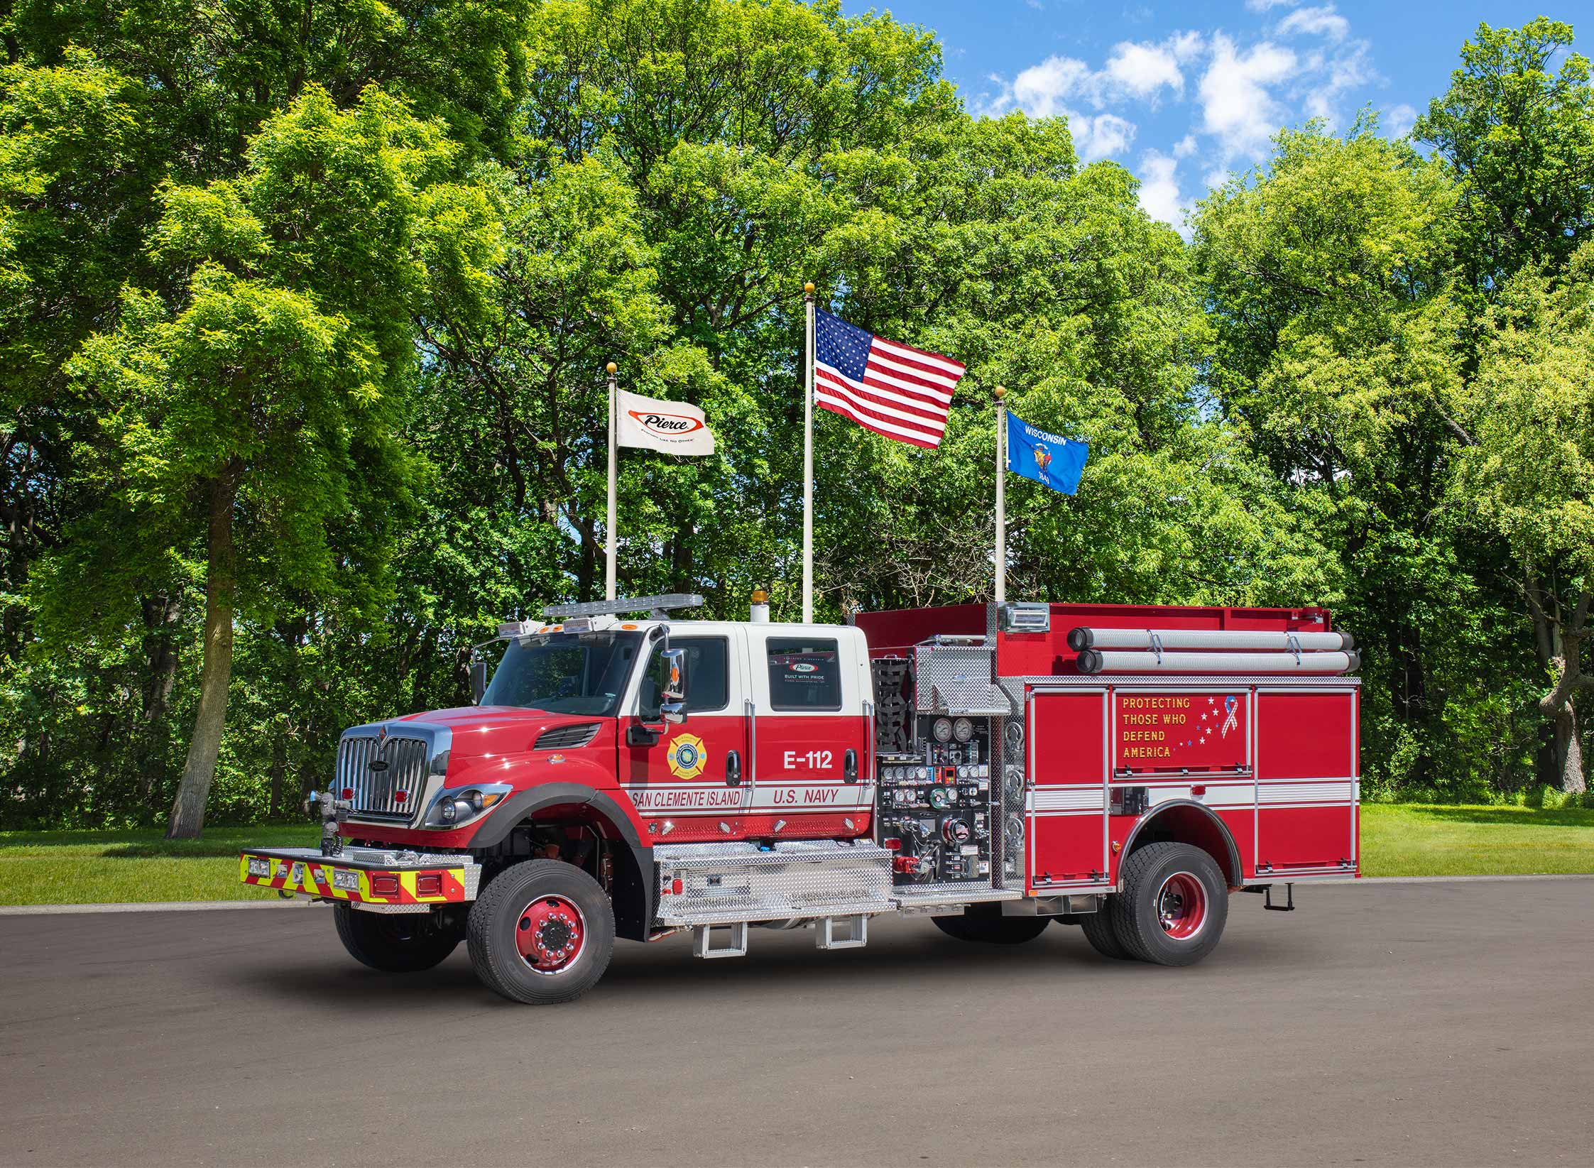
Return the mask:
[[[628, 712], [620, 719], [620, 786], [654, 841], [733, 840], [748, 798], [743, 647], [733, 629], [671, 634], [687, 655], [687, 719], [662, 723], [665, 637], [649, 641]], [[654, 830], [657, 827], [657, 832]]]

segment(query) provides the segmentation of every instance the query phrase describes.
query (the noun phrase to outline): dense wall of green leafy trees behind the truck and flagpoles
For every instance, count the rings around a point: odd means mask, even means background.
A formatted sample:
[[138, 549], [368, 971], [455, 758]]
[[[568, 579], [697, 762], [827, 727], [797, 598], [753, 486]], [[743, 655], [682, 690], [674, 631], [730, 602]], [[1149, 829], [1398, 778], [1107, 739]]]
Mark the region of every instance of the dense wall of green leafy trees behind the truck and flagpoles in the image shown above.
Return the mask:
[[821, 618], [988, 596], [1003, 384], [1092, 446], [1074, 497], [1009, 484], [1014, 596], [1329, 604], [1374, 787], [1573, 782], [1568, 25], [1481, 27], [1428, 156], [1283, 131], [1186, 244], [1063, 120], [971, 118], [932, 33], [835, 0], [0, 22], [6, 821], [159, 822], [206, 727], [210, 814], [282, 814], [341, 727], [465, 701], [497, 620], [601, 586], [607, 360], [719, 438], [622, 456], [622, 588], [795, 615], [805, 279], [969, 366], [934, 453], [819, 414]]

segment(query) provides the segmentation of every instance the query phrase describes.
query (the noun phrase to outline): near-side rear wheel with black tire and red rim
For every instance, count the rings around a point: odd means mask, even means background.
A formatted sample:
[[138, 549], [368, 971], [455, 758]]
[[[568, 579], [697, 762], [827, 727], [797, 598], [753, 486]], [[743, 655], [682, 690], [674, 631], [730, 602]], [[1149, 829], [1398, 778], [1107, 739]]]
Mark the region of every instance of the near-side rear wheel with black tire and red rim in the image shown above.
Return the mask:
[[1151, 843], [1122, 868], [1109, 897], [1113, 931], [1133, 956], [1156, 966], [1192, 966], [1218, 945], [1229, 919], [1229, 883], [1218, 864], [1188, 843]]

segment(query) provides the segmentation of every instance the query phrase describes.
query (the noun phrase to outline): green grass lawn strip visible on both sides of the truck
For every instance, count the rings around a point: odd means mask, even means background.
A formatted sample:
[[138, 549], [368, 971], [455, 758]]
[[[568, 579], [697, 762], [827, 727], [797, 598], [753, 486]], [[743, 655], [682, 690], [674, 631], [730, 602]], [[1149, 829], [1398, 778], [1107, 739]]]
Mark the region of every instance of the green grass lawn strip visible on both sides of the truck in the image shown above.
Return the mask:
[[[159, 832], [0, 832], [0, 905], [126, 900], [260, 900], [238, 883], [244, 845], [311, 848], [316, 824], [209, 827], [171, 843]], [[1366, 876], [1594, 872], [1594, 811], [1368, 803]]]

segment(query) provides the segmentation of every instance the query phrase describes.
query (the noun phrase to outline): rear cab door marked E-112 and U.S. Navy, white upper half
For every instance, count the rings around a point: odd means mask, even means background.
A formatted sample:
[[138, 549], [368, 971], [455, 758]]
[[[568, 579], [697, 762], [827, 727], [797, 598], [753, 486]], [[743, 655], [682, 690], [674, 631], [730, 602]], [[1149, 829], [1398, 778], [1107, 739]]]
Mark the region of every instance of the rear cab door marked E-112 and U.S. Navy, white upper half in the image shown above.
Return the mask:
[[749, 837], [854, 838], [870, 827], [869, 661], [850, 626], [749, 625], [756, 779]]

